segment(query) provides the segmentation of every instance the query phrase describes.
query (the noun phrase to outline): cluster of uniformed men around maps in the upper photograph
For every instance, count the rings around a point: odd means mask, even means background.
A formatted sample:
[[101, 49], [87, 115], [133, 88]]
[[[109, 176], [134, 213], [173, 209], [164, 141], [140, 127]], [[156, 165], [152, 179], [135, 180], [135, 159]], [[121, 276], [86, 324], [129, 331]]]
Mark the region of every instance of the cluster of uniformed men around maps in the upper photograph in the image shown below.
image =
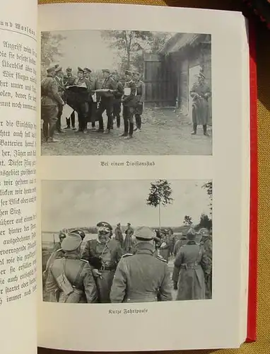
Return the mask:
[[[65, 130], [76, 130], [75, 112], [78, 114], [77, 133], [90, 130], [110, 133], [116, 122], [121, 125], [121, 112], [124, 120], [124, 132], [120, 137], [131, 139], [134, 131], [141, 132], [141, 115], [145, 98], [145, 85], [139, 72], [124, 72], [124, 81], [120, 81], [117, 72], [102, 69], [102, 82], [91, 77], [92, 71], [78, 67], [76, 76], [71, 67], [63, 69], [59, 64], [47, 68], [47, 77], [41, 82], [41, 119], [42, 133], [46, 142], [57, 142], [54, 132], [59, 134]], [[61, 128], [61, 116], [64, 105], [69, 105], [73, 112], [66, 117], [66, 127]], [[107, 115], [107, 129], [104, 127], [102, 114]], [[134, 127], [134, 118], [136, 127]], [[98, 122], [98, 127], [95, 123]]]

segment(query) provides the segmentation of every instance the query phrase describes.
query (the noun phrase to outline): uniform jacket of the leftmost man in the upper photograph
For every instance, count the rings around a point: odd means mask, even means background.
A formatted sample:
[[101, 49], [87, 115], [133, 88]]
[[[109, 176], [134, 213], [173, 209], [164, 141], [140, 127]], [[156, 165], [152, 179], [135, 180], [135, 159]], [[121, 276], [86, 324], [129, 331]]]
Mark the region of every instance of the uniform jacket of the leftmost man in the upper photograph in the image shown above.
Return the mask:
[[41, 105], [64, 105], [58, 92], [57, 81], [49, 75], [41, 81]]

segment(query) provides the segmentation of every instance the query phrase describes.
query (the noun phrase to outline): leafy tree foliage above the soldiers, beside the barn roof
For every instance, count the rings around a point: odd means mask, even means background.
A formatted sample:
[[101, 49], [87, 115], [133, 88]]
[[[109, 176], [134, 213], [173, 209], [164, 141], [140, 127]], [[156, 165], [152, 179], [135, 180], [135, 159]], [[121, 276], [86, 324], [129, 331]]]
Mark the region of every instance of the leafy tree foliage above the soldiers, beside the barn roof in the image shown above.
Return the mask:
[[170, 33], [141, 30], [102, 30], [101, 35], [121, 57], [121, 71], [133, 67], [139, 72], [143, 72], [144, 52], [157, 52], [170, 37]]

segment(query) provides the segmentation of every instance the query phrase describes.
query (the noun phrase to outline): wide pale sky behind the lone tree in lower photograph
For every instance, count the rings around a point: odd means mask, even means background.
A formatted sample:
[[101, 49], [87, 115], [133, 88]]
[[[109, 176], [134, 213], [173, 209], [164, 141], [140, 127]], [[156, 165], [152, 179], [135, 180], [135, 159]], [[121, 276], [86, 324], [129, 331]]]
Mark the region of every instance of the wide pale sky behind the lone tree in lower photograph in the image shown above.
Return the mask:
[[[146, 205], [153, 181], [42, 181], [42, 231], [93, 227], [100, 221], [134, 227], [158, 226], [158, 208]], [[162, 207], [161, 226], [182, 225], [185, 215], [199, 222], [209, 215], [206, 181], [168, 181], [172, 205]]]

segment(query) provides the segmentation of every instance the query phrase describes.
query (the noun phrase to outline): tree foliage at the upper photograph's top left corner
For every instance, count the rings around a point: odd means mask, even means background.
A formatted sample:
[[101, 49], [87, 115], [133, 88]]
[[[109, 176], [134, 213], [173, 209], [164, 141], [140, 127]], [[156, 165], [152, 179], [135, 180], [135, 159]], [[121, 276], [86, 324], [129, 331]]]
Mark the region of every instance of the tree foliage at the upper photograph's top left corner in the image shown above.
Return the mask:
[[42, 75], [46, 74], [46, 69], [53, 62], [57, 62], [63, 54], [61, 52], [61, 42], [65, 39], [63, 35], [55, 35], [51, 32], [41, 33], [41, 70]]

